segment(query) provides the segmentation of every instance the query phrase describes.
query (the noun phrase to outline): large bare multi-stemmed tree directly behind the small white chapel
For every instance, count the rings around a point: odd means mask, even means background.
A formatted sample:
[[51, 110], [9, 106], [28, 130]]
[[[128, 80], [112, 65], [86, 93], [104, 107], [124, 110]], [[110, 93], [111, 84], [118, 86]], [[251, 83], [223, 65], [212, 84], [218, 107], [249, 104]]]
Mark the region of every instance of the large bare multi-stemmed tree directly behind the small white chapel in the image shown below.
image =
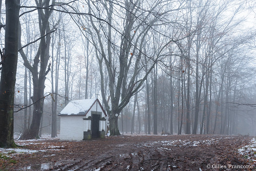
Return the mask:
[[[147, 79], [148, 74], [154, 68], [155, 63], [162, 57], [162, 52], [166, 48], [172, 39], [162, 44], [157, 54], [151, 58], [151, 55], [146, 55], [148, 59], [152, 59], [154, 62], [149, 66], [148, 71], [144, 73], [141, 80], [135, 82], [135, 77], [138, 75], [142, 68], [141, 64], [143, 54], [143, 44], [148, 38], [150, 32], [154, 32], [154, 25], [158, 25], [161, 20], [165, 20], [164, 17], [168, 12], [174, 10], [157, 12], [164, 8], [166, 5], [162, 1], [157, 1], [150, 9], [143, 10], [141, 1], [125, 1], [124, 6], [112, 1], [97, 2], [91, 5], [90, 1], [87, 2], [89, 6], [90, 23], [94, 32], [91, 32], [91, 37], [94, 46], [96, 47], [96, 56], [100, 63], [100, 70], [102, 70], [103, 61], [107, 67], [107, 73], [109, 77], [109, 92], [110, 92], [110, 104], [107, 102], [105, 90], [103, 86], [103, 73], [101, 73], [101, 92], [103, 96], [103, 102], [107, 108], [107, 113], [110, 120], [110, 134], [120, 135], [117, 127], [117, 116], [119, 116], [121, 110], [129, 103], [129, 100], [134, 93], [136, 93]], [[94, 7], [93, 7], [94, 6]], [[92, 8], [102, 8], [106, 12], [106, 18], [95, 21], [92, 17]], [[121, 8], [123, 17], [119, 19], [123, 20], [124, 26], [114, 26], [115, 17], [113, 11]], [[178, 7], [179, 9], [179, 7]], [[175, 9], [177, 10], [177, 9]], [[137, 16], [138, 14], [139, 17]], [[159, 22], [159, 23], [157, 23]], [[106, 25], [107, 29], [103, 29], [103, 25]], [[123, 29], [122, 29], [123, 28]], [[92, 31], [92, 30], [91, 30]], [[119, 36], [119, 46], [114, 41], [114, 36]], [[117, 37], [118, 37], [117, 36]], [[164, 37], [164, 35], [162, 35]], [[107, 49], [104, 48], [103, 41], [105, 38]], [[117, 49], [119, 47], [119, 49]], [[115, 50], [113, 53], [111, 50]], [[118, 61], [116, 64], [115, 61]], [[134, 62], [133, 62], [134, 61]], [[128, 75], [131, 77], [129, 78]]]

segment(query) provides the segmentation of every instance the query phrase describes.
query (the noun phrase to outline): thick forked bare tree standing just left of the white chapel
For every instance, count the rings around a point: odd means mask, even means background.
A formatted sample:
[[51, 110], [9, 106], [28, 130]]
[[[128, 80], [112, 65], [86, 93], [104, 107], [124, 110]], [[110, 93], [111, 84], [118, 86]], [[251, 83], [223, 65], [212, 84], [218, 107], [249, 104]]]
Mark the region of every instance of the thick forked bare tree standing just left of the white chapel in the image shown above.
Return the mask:
[[[33, 77], [33, 96], [31, 97], [34, 104], [33, 108], [33, 118], [31, 121], [31, 126], [28, 132], [23, 134], [23, 138], [38, 138], [38, 132], [40, 130], [41, 118], [43, 115], [44, 107], [44, 89], [45, 89], [45, 80], [46, 75], [50, 71], [49, 61], [49, 48], [50, 48], [50, 33], [54, 31], [55, 28], [50, 28], [49, 17], [53, 12], [53, 6], [47, 9], [44, 7], [50, 6], [50, 0], [46, 1], [37, 1], [35, 0], [36, 6], [38, 7], [38, 25], [40, 28], [40, 45], [38, 47], [36, 56], [34, 58], [34, 63], [31, 65], [28, 61], [26, 54], [22, 50], [21, 42], [19, 42], [19, 52], [24, 60], [24, 65], [32, 73]], [[52, 2], [54, 3], [54, 1]], [[19, 30], [21, 35], [21, 29]], [[39, 68], [38, 68], [39, 67]], [[38, 69], [40, 70], [38, 72]]]

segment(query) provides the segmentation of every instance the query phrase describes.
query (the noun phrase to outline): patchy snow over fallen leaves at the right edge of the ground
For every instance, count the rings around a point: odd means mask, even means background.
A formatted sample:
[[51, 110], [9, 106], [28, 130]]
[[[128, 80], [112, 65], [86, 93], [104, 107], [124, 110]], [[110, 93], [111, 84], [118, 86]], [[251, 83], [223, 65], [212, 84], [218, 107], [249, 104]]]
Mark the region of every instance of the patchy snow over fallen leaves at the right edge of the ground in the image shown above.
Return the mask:
[[249, 145], [243, 146], [241, 149], [238, 149], [238, 152], [245, 156], [247, 159], [256, 161], [256, 138], [252, 138]]

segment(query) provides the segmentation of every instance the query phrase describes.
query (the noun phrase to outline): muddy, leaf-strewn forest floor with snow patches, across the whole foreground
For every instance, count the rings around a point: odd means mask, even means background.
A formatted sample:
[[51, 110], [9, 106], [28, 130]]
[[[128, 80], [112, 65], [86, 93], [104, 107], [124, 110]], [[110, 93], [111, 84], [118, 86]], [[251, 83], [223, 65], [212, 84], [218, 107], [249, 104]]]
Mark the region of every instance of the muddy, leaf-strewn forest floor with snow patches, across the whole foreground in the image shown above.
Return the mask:
[[251, 136], [114, 136], [87, 141], [17, 140], [0, 170], [256, 170]]

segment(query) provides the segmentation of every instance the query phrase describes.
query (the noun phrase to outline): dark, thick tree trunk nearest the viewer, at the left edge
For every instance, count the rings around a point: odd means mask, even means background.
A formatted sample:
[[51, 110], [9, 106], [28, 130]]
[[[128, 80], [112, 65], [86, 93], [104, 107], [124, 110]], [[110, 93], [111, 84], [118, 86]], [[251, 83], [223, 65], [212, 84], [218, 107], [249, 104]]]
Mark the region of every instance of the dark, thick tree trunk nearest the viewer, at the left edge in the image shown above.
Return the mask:
[[19, 0], [5, 1], [5, 52], [2, 57], [0, 81], [0, 147], [14, 147], [13, 105], [18, 59]]

